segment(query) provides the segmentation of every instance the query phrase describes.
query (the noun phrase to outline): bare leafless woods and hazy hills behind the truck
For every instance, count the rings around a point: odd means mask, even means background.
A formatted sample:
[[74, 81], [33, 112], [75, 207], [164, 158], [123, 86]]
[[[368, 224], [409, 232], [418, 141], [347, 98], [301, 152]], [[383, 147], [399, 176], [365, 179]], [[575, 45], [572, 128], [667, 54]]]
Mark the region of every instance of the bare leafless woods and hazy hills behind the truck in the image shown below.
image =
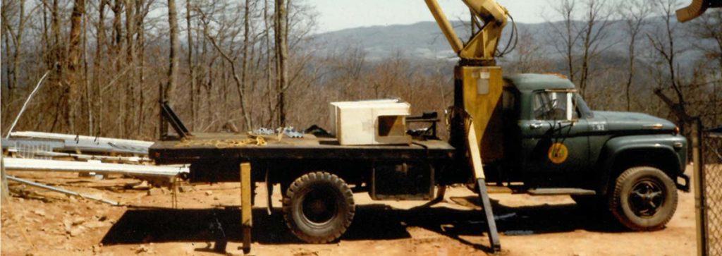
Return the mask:
[[[497, 63], [563, 74], [594, 109], [718, 127], [722, 10], [678, 23], [686, 4], [549, 0], [555, 21], [510, 23]], [[2, 134], [43, 77], [14, 131], [155, 140], [161, 100], [198, 132], [326, 127], [331, 101], [401, 98], [413, 114], [451, 106], [453, 53], [419, 56], [388, 40], [393, 51], [372, 58], [375, 46], [327, 40], [354, 29], [317, 33], [317, 16], [308, 0], [2, 1]], [[473, 24], [454, 22], [463, 37]], [[417, 33], [443, 40], [438, 28]]]

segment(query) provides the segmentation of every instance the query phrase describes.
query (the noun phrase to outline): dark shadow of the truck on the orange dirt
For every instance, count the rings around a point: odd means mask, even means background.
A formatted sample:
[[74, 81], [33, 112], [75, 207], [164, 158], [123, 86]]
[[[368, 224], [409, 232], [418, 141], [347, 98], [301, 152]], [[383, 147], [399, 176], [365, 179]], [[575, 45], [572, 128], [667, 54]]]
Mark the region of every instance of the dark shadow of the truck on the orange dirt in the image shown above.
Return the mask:
[[[461, 197], [474, 203], [475, 197]], [[477, 201], [478, 202], [478, 201]], [[498, 230], [506, 236], [568, 232], [578, 229], [622, 232], [625, 229], [608, 214], [579, 208], [575, 204], [508, 207], [492, 200]], [[416, 226], [488, 250], [486, 221], [481, 210], [419, 207], [409, 210], [389, 205], [358, 205], [354, 222], [342, 240], [404, 239]], [[303, 243], [288, 231], [280, 209], [269, 216], [265, 208], [253, 209], [253, 242], [260, 244]], [[484, 244], [465, 236], [484, 236]], [[241, 242], [238, 206], [211, 209], [129, 208], [110, 228], [103, 244], [161, 242]]]

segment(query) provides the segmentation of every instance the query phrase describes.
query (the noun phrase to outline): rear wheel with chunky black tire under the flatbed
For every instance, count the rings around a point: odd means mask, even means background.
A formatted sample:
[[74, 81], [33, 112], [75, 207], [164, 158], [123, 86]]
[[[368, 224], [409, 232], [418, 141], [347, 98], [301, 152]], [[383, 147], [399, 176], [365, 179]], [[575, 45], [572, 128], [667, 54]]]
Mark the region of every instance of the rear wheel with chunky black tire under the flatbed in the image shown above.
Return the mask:
[[343, 179], [323, 171], [296, 179], [283, 197], [283, 218], [299, 239], [322, 244], [339, 239], [351, 225], [356, 205]]

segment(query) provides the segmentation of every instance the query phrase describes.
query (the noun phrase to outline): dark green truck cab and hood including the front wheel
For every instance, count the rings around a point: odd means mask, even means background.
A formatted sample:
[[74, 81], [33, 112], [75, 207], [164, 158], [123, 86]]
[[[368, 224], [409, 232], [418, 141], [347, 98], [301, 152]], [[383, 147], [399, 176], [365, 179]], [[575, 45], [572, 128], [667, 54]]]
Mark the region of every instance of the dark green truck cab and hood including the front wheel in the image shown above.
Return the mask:
[[552, 74], [505, 77], [504, 160], [487, 182], [523, 184], [534, 195], [572, 195], [604, 205], [634, 230], [661, 229], [689, 191], [687, 140], [647, 114], [591, 111], [569, 80]]

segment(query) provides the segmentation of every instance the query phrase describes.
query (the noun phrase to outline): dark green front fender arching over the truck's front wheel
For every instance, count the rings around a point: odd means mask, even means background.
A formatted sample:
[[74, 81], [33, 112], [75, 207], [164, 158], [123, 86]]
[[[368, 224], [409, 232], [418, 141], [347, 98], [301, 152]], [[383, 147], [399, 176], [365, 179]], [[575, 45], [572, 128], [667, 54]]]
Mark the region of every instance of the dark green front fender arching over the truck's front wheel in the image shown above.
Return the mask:
[[[663, 170], [670, 179], [677, 183], [677, 187], [689, 190], [689, 178], [684, 175], [684, 166], [687, 164], [687, 140], [680, 135], [631, 135], [613, 137], [609, 139], [597, 161], [599, 187], [596, 189], [601, 195], [606, 195], [609, 184], [624, 170], [617, 170], [615, 166], [624, 166], [627, 163], [617, 163], [625, 154], [653, 155], [664, 159]], [[651, 160], [651, 159], [650, 159]], [[643, 163], [645, 159], [635, 159]], [[659, 166], [660, 163], [650, 163], [650, 166]], [[671, 166], [670, 166], [671, 165]], [[677, 177], [685, 179], [685, 184], [679, 184]]]

